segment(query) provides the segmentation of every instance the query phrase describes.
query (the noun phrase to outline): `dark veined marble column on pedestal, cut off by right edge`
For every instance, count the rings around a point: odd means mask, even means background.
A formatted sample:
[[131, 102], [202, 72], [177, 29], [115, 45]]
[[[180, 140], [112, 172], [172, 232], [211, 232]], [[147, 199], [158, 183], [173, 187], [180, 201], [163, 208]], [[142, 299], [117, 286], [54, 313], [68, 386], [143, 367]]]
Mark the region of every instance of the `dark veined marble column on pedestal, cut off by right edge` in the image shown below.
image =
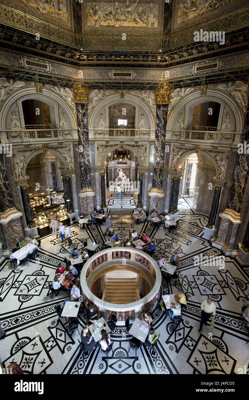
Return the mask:
[[245, 116], [245, 124], [241, 136], [241, 144], [243, 152], [239, 153], [235, 174], [233, 176], [233, 184], [231, 186], [227, 207], [219, 214], [221, 224], [217, 239], [213, 242], [213, 246], [219, 248], [223, 254], [230, 257], [238, 255], [237, 237], [239, 236], [238, 228], [241, 224], [241, 206], [244, 199], [245, 188], [249, 176], [249, 154], [244, 150], [249, 145], [249, 104]]

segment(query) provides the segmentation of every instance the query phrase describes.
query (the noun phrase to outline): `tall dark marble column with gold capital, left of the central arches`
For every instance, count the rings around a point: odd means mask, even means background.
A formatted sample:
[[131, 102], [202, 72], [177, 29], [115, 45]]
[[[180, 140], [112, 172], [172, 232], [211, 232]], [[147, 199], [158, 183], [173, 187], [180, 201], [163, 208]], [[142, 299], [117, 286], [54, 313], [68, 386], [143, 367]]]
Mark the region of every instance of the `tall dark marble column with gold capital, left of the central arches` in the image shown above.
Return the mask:
[[93, 196], [95, 192], [91, 186], [90, 150], [88, 132], [88, 92], [89, 89], [74, 87], [76, 102], [76, 117], [78, 125], [78, 147], [80, 164], [80, 203], [81, 213], [89, 215], [94, 209]]

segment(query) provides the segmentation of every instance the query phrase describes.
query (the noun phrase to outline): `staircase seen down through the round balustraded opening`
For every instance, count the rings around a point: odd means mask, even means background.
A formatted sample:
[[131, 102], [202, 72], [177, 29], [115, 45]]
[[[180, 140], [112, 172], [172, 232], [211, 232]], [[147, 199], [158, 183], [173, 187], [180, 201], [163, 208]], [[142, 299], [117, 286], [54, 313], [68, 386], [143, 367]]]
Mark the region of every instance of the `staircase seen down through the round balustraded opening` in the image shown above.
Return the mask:
[[139, 300], [140, 294], [137, 289], [137, 278], [106, 278], [104, 294], [105, 300], [109, 303], [126, 304]]

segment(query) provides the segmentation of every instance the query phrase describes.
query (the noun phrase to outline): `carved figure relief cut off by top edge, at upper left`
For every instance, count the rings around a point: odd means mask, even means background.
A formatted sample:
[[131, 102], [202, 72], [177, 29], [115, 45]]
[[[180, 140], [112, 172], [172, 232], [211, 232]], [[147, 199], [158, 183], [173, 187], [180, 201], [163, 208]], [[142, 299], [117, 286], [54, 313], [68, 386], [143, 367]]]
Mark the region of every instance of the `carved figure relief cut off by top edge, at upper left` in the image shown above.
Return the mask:
[[68, 14], [66, 12], [66, 5], [64, 0], [58, 0], [58, 5], [54, 0], [19, 0], [26, 6], [32, 6], [38, 8], [42, 14], [49, 14], [63, 21], [68, 20]]

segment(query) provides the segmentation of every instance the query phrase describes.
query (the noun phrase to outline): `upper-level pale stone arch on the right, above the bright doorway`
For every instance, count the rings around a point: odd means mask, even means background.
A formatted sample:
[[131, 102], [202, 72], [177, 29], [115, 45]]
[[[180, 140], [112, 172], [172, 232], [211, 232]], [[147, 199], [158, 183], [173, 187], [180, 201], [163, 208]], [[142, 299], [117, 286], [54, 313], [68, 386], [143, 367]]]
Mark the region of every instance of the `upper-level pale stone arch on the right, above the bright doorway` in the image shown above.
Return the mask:
[[[234, 132], [242, 132], [243, 130], [243, 120], [244, 115], [241, 109], [239, 108], [238, 104], [235, 100], [227, 93], [220, 89], [216, 88], [208, 88], [207, 94], [205, 96], [201, 95], [201, 90], [194, 90], [190, 92], [185, 97], [183, 97], [177, 105], [173, 108], [173, 110], [169, 110], [168, 120], [167, 120], [167, 130], [174, 130], [175, 129], [175, 121], [179, 117], [179, 113], [185, 110], [185, 124], [187, 121], [187, 111], [189, 110], [190, 106], [195, 106], [197, 104], [201, 104], [203, 102], [212, 101], [221, 104], [220, 116], [218, 126], [220, 124], [220, 120], [223, 116], [223, 111], [225, 108], [225, 104], [228, 104], [231, 108], [234, 118], [235, 118], [235, 128]], [[186, 125], [184, 125], [186, 126]], [[184, 128], [183, 128], [184, 129]]]

